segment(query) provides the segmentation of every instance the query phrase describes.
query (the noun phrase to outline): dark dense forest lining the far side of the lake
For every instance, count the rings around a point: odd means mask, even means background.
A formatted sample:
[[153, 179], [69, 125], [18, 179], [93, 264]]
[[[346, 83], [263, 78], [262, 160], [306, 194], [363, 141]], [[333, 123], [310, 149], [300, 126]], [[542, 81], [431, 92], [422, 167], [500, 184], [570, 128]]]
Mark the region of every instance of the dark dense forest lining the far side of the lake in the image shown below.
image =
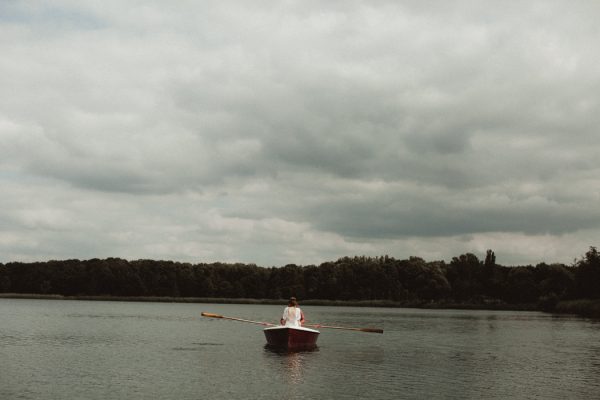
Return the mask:
[[410, 257], [344, 257], [319, 266], [189, 264], [120, 258], [0, 264], [0, 293], [63, 296], [390, 301], [395, 304], [535, 304], [600, 298], [595, 247], [573, 265], [502, 266], [492, 250], [427, 262]]

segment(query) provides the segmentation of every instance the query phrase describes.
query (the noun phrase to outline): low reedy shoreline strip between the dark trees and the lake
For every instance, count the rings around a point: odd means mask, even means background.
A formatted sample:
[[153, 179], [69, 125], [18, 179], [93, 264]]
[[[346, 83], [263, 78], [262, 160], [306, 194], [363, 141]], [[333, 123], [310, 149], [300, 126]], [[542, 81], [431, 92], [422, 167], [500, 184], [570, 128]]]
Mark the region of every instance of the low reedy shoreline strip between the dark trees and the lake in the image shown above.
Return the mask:
[[[286, 299], [249, 299], [216, 297], [169, 297], [169, 296], [63, 296], [60, 294], [0, 293], [0, 299], [32, 300], [80, 300], [80, 301], [127, 301], [155, 303], [197, 303], [197, 304], [270, 304], [281, 305]], [[588, 318], [600, 318], [600, 300], [579, 299], [559, 301], [553, 310], [543, 310], [538, 304], [506, 303], [457, 303], [426, 301], [389, 300], [303, 300], [305, 306], [332, 307], [384, 307], [416, 308], [427, 310], [488, 310], [488, 311], [539, 311], [549, 314], [572, 314]]]

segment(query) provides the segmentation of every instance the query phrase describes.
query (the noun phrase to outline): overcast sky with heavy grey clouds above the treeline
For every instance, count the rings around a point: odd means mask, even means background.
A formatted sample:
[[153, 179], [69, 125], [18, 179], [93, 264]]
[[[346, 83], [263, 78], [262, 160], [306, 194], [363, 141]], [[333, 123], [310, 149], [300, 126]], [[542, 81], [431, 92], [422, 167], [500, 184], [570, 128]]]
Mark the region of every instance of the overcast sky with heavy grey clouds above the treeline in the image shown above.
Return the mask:
[[596, 1], [0, 2], [0, 262], [572, 263]]

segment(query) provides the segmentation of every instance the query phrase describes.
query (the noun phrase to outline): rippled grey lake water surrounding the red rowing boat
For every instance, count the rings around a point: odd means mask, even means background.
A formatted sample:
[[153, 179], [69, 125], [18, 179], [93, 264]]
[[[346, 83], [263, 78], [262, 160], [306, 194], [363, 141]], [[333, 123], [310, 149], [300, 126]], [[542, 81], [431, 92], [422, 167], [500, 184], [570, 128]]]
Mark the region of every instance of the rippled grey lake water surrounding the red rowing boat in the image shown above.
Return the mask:
[[315, 351], [265, 347], [283, 305], [0, 299], [0, 399], [599, 399], [600, 323], [306, 306]]

